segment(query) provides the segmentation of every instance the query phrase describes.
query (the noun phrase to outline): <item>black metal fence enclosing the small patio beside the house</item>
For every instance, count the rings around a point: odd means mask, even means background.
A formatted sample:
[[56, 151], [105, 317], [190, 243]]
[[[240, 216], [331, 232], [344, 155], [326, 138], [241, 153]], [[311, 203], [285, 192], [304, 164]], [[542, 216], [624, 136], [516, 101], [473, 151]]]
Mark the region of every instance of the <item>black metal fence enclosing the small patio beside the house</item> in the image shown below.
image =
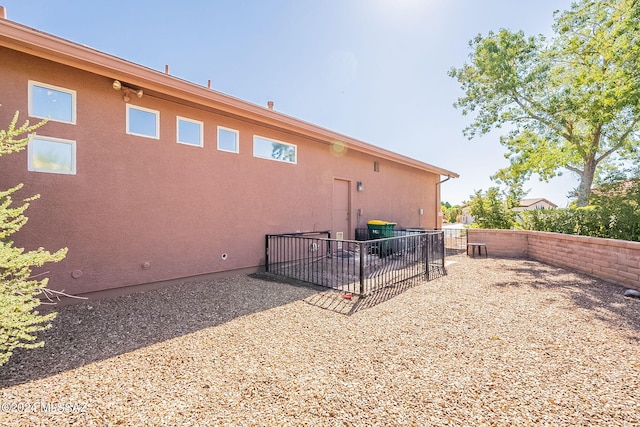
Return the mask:
[[268, 234], [266, 271], [358, 295], [446, 274], [442, 231], [394, 234], [376, 240], [337, 240], [330, 231]]

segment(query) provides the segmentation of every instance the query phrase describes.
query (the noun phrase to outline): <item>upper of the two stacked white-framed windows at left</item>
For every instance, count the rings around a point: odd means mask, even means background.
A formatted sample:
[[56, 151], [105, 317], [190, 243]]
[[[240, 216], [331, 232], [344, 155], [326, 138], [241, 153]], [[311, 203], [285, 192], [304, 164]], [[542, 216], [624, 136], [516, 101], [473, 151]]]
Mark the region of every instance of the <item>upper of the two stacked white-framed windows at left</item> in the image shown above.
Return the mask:
[[29, 80], [29, 115], [76, 123], [76, 91]]

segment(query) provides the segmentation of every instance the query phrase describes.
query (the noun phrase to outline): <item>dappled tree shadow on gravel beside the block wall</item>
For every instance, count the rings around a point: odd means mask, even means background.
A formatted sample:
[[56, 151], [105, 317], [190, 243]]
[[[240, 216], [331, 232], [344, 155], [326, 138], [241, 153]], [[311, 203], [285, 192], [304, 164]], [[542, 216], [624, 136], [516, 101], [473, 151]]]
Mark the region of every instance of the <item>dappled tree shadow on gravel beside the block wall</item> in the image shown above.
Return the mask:
[[516, 273], [518, 280], [497, 282], [494, 286], [561, 290], [569, 295], [576, 307], [595, 312], [599, 320], [636, 332], [633, 339], [640, 341], [637, 336], [640, 332], [640, 299], [625, 297], [626, 287], [535, 261], [520, 262], [517, 266], [501, 264], [499, 268]]

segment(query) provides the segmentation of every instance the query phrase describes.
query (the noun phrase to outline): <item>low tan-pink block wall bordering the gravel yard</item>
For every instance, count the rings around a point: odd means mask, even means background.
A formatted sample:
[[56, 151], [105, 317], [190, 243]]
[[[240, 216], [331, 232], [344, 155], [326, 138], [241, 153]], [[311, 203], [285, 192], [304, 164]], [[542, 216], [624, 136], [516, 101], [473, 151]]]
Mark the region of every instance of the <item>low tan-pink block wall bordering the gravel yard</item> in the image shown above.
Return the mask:
[[489, 255], [528, 258], [640, 290], [640, 243], [561, 233], [469, 229]]

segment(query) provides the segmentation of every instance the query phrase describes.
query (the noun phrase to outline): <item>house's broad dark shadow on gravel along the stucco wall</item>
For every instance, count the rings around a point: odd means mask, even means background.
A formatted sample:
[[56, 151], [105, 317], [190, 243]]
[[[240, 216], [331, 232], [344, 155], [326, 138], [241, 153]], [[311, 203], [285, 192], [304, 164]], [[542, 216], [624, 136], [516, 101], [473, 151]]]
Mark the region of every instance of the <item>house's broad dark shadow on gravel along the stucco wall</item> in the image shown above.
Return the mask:
[[0, 366], [0, 388], [180, 337], [317, 294], [324, 288], [258, 276], [185, 282], [59, 307], [45, 346], [17, 349]]

